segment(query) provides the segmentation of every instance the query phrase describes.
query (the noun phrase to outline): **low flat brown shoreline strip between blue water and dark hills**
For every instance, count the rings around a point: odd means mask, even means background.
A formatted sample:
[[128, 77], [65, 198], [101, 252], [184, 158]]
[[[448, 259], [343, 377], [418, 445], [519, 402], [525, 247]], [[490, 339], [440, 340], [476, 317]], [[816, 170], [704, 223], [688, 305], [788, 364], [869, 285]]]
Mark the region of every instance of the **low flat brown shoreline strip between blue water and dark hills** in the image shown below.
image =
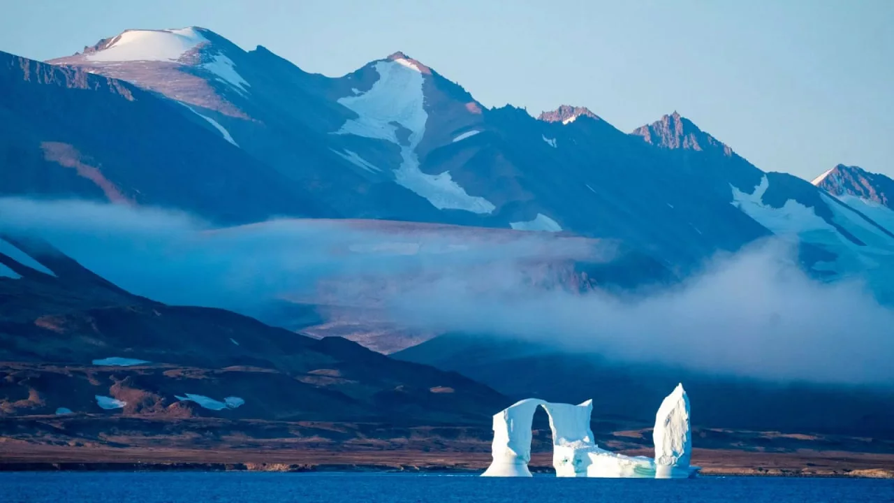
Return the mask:
[[[12, 449], [10, 449], [12, 448]], [[314, 449], [72, 448], [0, 444], [0, 473], [482, 473], [490, 453]], [[894, 479], [894, 455], [696, 449], [700, 476]], [[531, 472], [552, 473], [552, 454], [532, 455]]]

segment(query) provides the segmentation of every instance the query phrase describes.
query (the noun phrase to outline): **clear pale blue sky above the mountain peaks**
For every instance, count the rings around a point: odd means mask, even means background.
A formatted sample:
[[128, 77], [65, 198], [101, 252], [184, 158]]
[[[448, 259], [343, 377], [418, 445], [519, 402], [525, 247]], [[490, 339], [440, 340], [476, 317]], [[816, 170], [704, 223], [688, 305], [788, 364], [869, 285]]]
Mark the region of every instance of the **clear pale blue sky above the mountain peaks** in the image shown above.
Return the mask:
[[768, 171], [894, 176], [894, 0], [0, 0], [0, 50], [69, 55], [202, 26], [341, 75], [396, 50], [486, 106], [590, 107], [624, 131], [678, 110]]

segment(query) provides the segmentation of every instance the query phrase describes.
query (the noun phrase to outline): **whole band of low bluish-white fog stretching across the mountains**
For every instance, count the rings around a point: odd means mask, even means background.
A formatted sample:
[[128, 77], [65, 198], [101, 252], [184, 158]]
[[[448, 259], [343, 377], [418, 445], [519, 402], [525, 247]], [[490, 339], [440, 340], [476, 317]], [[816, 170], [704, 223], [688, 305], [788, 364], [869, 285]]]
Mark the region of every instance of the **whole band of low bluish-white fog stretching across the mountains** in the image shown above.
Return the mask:
[[762, 379], [894, 384], [894, 311], [857, 280], [807, 277], [794, 250], [774, 240], [715, 257], [679, 285], [618, 296], [533, 283], [532, 263], [608, 262], [619, 252], [552, 234], [413, 234], [333, 220], [213, 229], [172, 211], [22, 199], [0, 199], [0, 233], [46, 239], [164, 303], [245, 312], [321, 292], [351, 305], [372, 291], [413, 328]]

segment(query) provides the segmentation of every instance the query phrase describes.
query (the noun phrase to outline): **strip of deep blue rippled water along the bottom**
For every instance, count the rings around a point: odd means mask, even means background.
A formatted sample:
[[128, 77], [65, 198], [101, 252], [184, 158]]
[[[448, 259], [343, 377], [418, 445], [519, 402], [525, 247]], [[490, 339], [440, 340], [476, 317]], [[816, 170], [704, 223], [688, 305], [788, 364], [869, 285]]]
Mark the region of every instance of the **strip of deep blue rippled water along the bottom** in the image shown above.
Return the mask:
[[491, 479], [409, 473], [0, 473], [3, 503], [888, 503], [894, 481]]

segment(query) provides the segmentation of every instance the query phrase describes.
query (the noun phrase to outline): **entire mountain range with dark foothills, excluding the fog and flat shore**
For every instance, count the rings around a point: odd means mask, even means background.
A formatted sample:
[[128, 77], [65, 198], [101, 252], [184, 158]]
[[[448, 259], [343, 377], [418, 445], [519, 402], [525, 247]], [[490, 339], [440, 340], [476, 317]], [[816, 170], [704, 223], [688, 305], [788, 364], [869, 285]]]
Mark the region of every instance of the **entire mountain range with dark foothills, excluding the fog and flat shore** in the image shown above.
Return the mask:
[[[526, 287], [586, 295], [673, 287], [718, 255], [777, 236], [797, 250], [808, 276], [825, 284], [859, 279], [878, 303], [894, 303], [894, 181], [843, 165], [812, 183], [763, 172], [677, 112], [633, 132], [586, 107], [534, 117], [519, 107], [485, 107], [401, 52], [332, 78], [198, 27], [126, 30], [45, 63], [0, 53], [0, 90], [0, 195], [175, 210], [217, 229], [203, 231], [209, 246], [249, 234], [266, 247], [266, 227], [257, 223], [313, 219], [372, 232], [375, 243], [364, 246], [426, 264], [434, 261], [422, 252], [431, 250], [432, 236], [459, 251], [451, 257], [465, 257], [472, 243], [492, 257], [475, 264], [478, 274], [505, 250], [490, 246], [573, 244], [588, 252], [513, 260], [526, 271]], [[637, 384], [637, 372], [527, 341], [488, 367], [480, 355], [500, 353], [504, 339], [401, 325], [375, 300], [430, 280], [431, 269], [416, 265], [398, 275], [379, 274], [375, 264], [351, 269], [309, 294], [277, 291], [264, 303], [203, 299], [192, 302], [202, 307], [177, 307], [169, 304], [190, 302], [176, 292], [141, 292], [120, 264], [66, 248], [52, 233], [9, 232], [0, 228], [7, 233], [0, 272], [8, 269], [0, 275], [0, 354], [13, 362], [4, 370], [4, 414], [57, 406], [97, 413], [92, 396], [107, 395], [126, 402], [126, 414], [189, 417], [209, 412], [174, 396], [232, 393], [245, 405], [225, 412], [245, 419], [486, 422], [526, 391], [561, 393], [561, 385], [542, 381], [566, 365], [585, 369], [581, 387], [611, 375], [614, 401], [660, 393]], [[611, 257], [594, 260], [592, 250], [607, 244]], [[16, 260], [21, 252], [38, 269]], [[327, 294], [333, 285], [350, 285], [350, 302]], [[403, 351], [393, 359], [324, 337], [336, 335], [383, 353]], [[531, 364], [531, 351], [551, 362]], [[112, 356], [148, 362], [89, 364]], [[530, 379], [512, 378], [527, 365]], [[60, 379], [76, 383], [74, 391], [60, 396]], [[691, 379], [718, 400], [730, 382], [704, 373]], [[788, 403], [791, 413], [746, 421], [737, 398], [718, 401], [725, 405], [705, 414], [704, 424], [791, 431], [797, 410], [812, 410], [831, 414], [809, 422], [814, 431], [894, 434], [885, 426], [894, 418], [890, 389], [768, 386], [778, 385], [734, 388], [758, 406]], [[587, 397], [582, 388], [565, 391], [567, 399]], [[804, 404], [791, 405], [792, 396]], [[645, 421], [649, 412], [620, 406], [618, 414]]]

